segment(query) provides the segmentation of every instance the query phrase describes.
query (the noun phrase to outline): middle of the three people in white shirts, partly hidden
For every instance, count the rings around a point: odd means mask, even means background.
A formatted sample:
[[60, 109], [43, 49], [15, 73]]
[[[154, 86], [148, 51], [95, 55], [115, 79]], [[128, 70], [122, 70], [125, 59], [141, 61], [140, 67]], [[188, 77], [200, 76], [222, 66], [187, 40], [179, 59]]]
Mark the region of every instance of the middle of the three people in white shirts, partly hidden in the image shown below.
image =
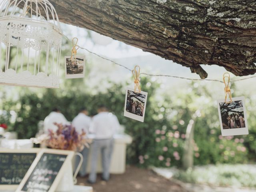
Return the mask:
[[[82, 108], [80, 113], [74, 118], [72, 121], [72, 126], [76, 129], [79, 134], [82, 134], [82, 131], [86, 133], [86, 136], [89, 134], [89, 127], [90, 127], [91, 118], [88, 116], [88, 111], [86, 108]], [[87, 160], [89, 155], [89, 149], [84, 146], [84, 149], [80, 152], [83, 156], [82, 166], [79, 170], [79, 174], [81, 177], [86, 175], [86, 167], [87, 167]], [[80, 162], [80, 158], [76, 158], [76, 168]]]

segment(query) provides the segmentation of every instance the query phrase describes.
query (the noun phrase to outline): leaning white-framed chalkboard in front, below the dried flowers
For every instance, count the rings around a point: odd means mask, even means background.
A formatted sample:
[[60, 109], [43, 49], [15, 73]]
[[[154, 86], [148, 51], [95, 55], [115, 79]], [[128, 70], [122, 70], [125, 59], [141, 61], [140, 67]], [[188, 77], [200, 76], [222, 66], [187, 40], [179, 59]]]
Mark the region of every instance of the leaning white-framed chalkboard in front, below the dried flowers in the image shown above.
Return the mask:
[[74, 151], [42, 149], [16, 192], [54, 192], [73, 156]]

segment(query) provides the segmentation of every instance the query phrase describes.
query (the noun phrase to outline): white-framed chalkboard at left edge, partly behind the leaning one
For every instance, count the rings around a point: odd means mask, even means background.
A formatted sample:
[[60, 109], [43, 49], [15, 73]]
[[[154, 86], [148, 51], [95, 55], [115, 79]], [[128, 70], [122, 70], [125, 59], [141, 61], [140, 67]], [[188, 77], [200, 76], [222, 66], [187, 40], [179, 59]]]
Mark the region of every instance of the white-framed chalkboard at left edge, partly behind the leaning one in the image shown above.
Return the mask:
[[0, 149], [0, 190], [15, 190], [34, 162], [40, 148]]

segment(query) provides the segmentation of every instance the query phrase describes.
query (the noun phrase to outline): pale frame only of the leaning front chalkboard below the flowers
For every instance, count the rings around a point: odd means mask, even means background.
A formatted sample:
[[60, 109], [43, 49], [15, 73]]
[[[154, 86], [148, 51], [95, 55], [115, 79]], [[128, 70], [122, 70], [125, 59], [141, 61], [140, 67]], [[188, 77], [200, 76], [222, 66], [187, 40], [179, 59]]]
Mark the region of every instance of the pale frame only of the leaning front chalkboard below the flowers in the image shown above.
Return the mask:
[[65, 159], [64, 163], [62, 164], [62, 167], [60, 168], [60, 171], [58, 172], [54, 182], [52, 183], [52, 185], [50, 186], [50, 189], [48, 191], [48, 192], [55, 192], [55, 190], [58, 187], [58, 184], [59, 184], [59, 182], [60, 182], [60, 180], [61, 180], [61, 178], [62, 178], [62, 176], [65, 172], [66, 167], [69, 166], [68, 162], [71, 161], [73, 156], [74, 156], [74, 151], [56, 150], [56, 149], [42, 149], [38, 153], [38, 155], [36, 156], [36, 159], [34, 160], [32, 165], [30, 166], [30, 168], [28, 169], [28, 172], [26, 173], [26, 175], [24, 176], [24, 178], [20, 182], [20, 185], [18, 186], [16, 192], [24, 192], [24, 191], [22, 191], [22, 188], [26, 184], [26, 181], [28, 180], [30, 174], [32, 174], [34, 168], [36, 167], [36, 165], [38, 164], [40, 158], [42, 157], [42, 155], [44, 153], [67, 155], [67, 158]]

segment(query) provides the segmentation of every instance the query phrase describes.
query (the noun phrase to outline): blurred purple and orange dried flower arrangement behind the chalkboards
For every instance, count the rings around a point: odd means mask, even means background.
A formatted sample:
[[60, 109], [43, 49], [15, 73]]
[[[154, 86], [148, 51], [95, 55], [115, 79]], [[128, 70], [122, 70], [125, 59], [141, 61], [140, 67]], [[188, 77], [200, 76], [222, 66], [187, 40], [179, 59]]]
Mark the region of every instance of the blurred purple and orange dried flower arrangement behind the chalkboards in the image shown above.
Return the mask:
[[38, 138], [32, 138], [32, 141], [37, 144], [44, 144], [52, 149], [81, 151], [84, 146], [89, 148], [90, 139], [87, 139], [86, 133], [82, 131], [79, 134], [72, 125], [57, 124], [56, 132], [49, 130], [49, 134], [41, 135]]

